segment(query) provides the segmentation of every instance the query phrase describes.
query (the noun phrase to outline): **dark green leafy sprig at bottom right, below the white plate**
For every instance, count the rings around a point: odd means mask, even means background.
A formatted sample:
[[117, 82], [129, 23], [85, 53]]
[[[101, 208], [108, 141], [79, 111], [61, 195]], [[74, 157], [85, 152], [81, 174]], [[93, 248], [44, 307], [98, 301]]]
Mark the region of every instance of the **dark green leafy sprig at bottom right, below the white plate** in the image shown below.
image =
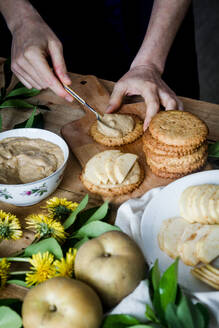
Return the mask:
[[146, 305], [147, 324], [129, 315], [109, 315], [102, 328], [207, 328], [209, 314], [200, 303], [193, 304], [177, 283], [178, 259], [161, 276], [158, 261], [149, 273], [152, 307]]

